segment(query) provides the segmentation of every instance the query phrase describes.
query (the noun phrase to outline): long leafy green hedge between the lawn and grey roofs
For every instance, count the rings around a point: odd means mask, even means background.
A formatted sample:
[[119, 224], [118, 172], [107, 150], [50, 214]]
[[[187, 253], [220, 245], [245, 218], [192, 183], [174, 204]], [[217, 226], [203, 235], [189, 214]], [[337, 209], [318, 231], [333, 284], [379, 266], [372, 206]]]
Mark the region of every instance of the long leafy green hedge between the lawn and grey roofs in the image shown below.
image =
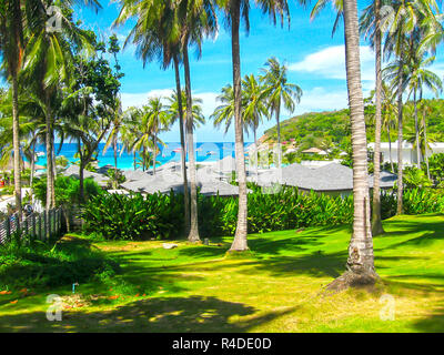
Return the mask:
[[[353, 196], [329, 196], [302, 193], [292, 186], [274, 186], [273, 193], [250, 184], [249, 233], [264, 233], [320, 225], [350, 224], [353, 221]], [[273, 190], [273, 189], [271, 189]], [[444, 211], [444, 195], [436, 190], [412, 189], [404, 194], [406, 214]], [[199, 194], [199, 233], [201, 236], [233, 235], [238, 223], [238, 196]], [[396, 196], [383, 192], [383, 219], [395, 215]], [[158, 240], [182, 233], [183, 195], [101, 194], [87, 203], [85, 232], [109, 240]]]

